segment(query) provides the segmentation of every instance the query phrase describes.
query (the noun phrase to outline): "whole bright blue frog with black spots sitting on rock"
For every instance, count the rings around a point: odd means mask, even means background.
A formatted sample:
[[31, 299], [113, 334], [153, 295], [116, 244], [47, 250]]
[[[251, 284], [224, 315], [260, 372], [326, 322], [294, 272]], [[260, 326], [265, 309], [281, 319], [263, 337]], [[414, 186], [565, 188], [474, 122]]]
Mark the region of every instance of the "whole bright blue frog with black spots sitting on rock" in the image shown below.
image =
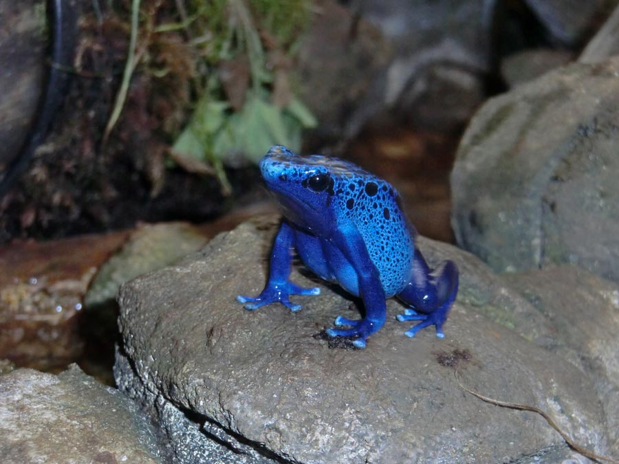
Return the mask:
[[409, 309], [400, 322], [420, 321], [405, 335], [434, 325], [436, 335], [458, 291], [458, 269], [444, 261], [433, 270], [419, 250], [417, 232], [404, 216], [400, 195], [382, 179], [355, 164], [322, 155], [301, 156], [285, 146], [272, 146], [261, 159], [265, 185], [283, 212], [283, 221], [271, 252], [269, 279], [257, 297], [238, 296], [245, 308], [258, 309], [279, 301], [292, 311], [301, 309], [291, 295], [318, 295], [290, 282], [292, 249], [320, 278], [338, 283], [362, 299], [365, 318], [338, 316], [330, 337], [365, 340], [387, 317], [385, 298], [397, 296]]

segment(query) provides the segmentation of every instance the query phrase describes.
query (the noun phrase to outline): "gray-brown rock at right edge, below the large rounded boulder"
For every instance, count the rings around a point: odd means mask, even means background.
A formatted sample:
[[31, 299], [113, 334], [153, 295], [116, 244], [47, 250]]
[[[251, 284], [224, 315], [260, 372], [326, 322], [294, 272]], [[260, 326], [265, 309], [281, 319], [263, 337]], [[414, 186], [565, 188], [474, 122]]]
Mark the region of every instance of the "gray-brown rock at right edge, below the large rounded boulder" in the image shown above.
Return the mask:
[[512, 313], [514, 329], [593, 380], [605, 405], [611, 454], [619, 455], [618, 285], [573, 265], [505, 280], [531, 303]]

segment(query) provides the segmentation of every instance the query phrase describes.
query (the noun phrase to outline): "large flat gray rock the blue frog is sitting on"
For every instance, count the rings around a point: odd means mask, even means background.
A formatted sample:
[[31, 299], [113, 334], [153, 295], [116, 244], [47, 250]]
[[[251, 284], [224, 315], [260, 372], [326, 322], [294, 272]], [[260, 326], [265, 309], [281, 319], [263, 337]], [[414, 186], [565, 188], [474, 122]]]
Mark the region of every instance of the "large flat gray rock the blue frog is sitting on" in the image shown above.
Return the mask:
[[[367, 349], [347, 351], [329, 349], [314, 335], [331, 327], [338, 313], [347, 313], [349, 301], [298, 267], [292, 280], [322, 289], [321, 296], [296, 298], [302, 311], [270, 305], [250, 312], [235, 301], [236, 295], [257, 294], [263, 287], [273, 234], [274, 228], [243, 224], [199, 254], [121, 287], [123, 351], [116, 373], [122, 390], [151, 408], [172, 404], [186, 418], [208, 423], [208, 434], [219, 441], [253, 448], [255, 459], [576, 459], [536, 415], [464, 393], [454, 379], [459, 362], [468, 387], [547, 410], [577, 442], [607, 450], [605, 410], [594, 383], [560, 355], [504, 327], [519, 322], [517, 316], [505, 320], [506, 308], [536, 309], [474, 256], [420, 239], [431, 264], [450, 256], [461, 269], [461, 291], [444, 340], [430, 330], [412, 340], [404, 337], [409, 324], [393, 317], [402, 306], [389, 300], [391, 317]], [[195, 458], [202, 444], [186, 439], [187, 428], [169, 428], [169, 436], [175, 434], [184, 447], [194, 446], [185, 450], [193, 457], [177, 455], [177, 462], [215, 462]]]

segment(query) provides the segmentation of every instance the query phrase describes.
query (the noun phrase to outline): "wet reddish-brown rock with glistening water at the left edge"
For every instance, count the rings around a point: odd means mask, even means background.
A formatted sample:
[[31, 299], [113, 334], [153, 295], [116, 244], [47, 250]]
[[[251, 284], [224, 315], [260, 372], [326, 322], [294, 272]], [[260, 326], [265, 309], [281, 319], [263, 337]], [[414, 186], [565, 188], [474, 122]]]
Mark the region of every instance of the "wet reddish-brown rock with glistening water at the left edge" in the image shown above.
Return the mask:
[[[80, 360], [92, 373], [83, 363], [91, 342], [84, 333], [84, 296], [97, 267], [126, 238], [127, 232], [112, 232], [0, 245], [0, 358], [48, 372]], [[105, 337], [113, 344], [116, 316], [108, 327]], [[107, 382], [113, 383], [110, 371]]]

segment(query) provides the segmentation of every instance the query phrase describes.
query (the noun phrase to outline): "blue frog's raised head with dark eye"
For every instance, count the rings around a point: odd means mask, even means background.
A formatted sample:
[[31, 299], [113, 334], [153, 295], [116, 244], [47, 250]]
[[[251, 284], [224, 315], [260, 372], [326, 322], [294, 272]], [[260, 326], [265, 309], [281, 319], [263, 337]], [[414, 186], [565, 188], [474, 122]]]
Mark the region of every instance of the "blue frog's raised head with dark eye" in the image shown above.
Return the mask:
[[318, 233], [333, 224], [334, 187], [340, 160], [322, 155], [296, 155], [285, 146], [272, 146], [261, 159], [260, 170], [284, 216]]

